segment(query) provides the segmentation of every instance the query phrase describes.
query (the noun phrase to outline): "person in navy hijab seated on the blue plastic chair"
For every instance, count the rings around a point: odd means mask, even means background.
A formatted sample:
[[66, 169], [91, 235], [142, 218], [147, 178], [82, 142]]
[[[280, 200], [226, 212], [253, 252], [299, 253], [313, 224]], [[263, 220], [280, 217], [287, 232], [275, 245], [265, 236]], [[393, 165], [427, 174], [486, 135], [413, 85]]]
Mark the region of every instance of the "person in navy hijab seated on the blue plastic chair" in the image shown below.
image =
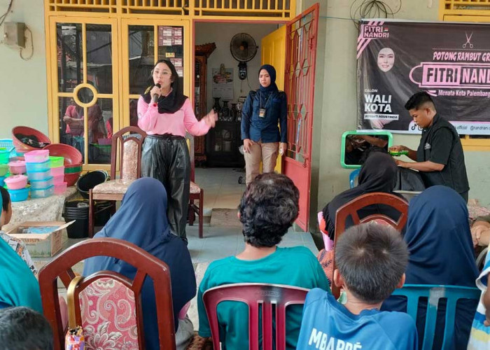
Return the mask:
[[[433, 186], [415, 197], [410, 202], [403, 239], [409, 251], [405, 283], [475, 286], [478, 270], [468, 224], [468, 208], [456, 191], [447, 186]], [[382, 309], [405, 311], [406, 305], [406, 299], [393, 296], [384, 302]], [[452, 349], [466, 349], [476, 306], [474, 300], [458, 302]], [[433, 349], [442, 346], [442, 314], [445, 309], [446, 301], [442, 300]], [[423, 339], [425, 315], [426, 302], [420, 302], [416, 322], [419, 346]]]

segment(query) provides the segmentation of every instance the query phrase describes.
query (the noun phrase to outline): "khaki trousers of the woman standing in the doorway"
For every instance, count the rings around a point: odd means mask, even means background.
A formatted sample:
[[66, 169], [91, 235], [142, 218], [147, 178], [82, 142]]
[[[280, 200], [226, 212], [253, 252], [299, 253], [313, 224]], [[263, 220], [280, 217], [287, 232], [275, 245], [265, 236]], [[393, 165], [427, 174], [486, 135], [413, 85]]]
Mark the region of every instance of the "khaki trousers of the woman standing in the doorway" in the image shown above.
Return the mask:
[[274, 172], [277, 155], [279, 153], [279, 142], [255, 142], [250, 147], [250, 153], [245, 153], [246, 186], [255, 179], [262, 161], [262, 173]]

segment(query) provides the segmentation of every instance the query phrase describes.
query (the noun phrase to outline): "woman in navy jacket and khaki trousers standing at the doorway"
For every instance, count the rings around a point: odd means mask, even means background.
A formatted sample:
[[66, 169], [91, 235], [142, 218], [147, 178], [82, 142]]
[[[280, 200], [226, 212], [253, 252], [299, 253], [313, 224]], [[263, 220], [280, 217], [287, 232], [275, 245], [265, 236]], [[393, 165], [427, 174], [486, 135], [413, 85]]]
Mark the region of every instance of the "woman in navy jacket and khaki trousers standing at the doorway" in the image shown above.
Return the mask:
[[264, 64], [258, 80], [260, 88], [248, 93], [241, 111], [247, 186], [258, 175], [260, 162], [262, 172], [273, 172], [277, 154], [283, 155], [288, 147], [286, 93], [277, 89], [276, 69]]

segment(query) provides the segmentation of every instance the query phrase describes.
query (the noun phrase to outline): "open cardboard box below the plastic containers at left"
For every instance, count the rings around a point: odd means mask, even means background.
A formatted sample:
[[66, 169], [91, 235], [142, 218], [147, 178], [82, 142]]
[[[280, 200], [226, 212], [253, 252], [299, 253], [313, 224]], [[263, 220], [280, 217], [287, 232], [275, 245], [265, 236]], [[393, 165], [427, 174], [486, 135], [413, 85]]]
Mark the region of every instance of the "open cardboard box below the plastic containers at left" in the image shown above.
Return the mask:
[[[62, 232], [74, 222], [75, 221], [69, 223], [65, 223], [64, 221], [26, 221], [15, 226], [6, 232], [6, 234], [23, 241], [32, 258], [49, 258], [62, 249]], [[47, 233], [22, 233], [26, 228], [50, 226], [55, 227], [55, 229]]]

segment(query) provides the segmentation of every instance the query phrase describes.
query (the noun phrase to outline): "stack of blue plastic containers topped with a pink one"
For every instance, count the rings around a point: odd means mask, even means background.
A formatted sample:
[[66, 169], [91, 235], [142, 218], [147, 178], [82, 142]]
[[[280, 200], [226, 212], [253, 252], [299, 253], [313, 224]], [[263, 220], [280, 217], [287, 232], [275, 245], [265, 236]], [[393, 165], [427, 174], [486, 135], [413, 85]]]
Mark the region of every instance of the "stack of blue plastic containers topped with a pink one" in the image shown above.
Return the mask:
[[31, 183], [31, 198], [45, 198], [55, 193], [51, 176], [48, 150], [36, 150], [25, 153], [27, 177]]

